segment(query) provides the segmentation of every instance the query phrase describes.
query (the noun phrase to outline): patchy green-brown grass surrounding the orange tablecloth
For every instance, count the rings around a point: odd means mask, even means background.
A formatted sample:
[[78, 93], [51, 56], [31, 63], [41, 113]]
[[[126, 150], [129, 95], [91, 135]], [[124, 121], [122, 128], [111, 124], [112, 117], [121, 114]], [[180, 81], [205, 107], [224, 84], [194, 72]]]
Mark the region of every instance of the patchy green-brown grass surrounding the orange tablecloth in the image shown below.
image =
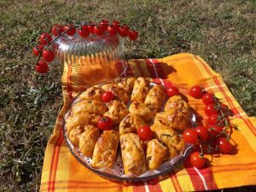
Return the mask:
[[[120, 20], [140, 32], [127, 58], [201, 55], [256, 115], [255, 1], [0, 1], [0, 191], [38, 191], [62, 105], [61, 70], [33, 72], [32, 46], [55, 23]], [[224, 189], [253, 191], [255, 187]]]

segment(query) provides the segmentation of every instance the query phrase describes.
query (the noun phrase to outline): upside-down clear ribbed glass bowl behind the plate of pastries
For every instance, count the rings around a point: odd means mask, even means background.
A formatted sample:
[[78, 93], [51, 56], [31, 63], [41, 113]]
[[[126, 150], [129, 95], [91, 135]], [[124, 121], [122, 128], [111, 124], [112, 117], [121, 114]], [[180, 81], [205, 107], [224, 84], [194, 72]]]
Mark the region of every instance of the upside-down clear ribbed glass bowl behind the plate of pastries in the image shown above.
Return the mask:
[[70, 75], [69, 82], [62, 78], [63, 84], [88, 87], [125, 73], [127, 63], [122, 38], [107, 32], [81, 38], [77, 33], [72, 37], [65, 34], [53, 44], [56, 61], [64, 64], [63, 75]]

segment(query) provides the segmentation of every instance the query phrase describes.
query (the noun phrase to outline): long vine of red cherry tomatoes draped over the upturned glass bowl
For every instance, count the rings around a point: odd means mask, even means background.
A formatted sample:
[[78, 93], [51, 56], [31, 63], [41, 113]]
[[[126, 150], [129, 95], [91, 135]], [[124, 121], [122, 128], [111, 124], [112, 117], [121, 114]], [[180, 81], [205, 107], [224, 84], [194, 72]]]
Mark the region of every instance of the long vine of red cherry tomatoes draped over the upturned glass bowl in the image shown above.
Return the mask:
[[[54, 50], [49, 49], [49, 45], [60, 38], [61, 35], [67, 34], [68, 36], [73, 36], [78, 33], [79, 37], [88, 38], [90, 34], [102, 36], [105, 32], [108, 32], [109, 35], [119, 34], [122, 38], [129, 37], [131, 41], [135, 41], [138, 38], [138, 32], [131, 30], [131, 28], [125, 24], [121, 25], [117, 20], [113, 20], [112, 23], [108, 20], [102, 20], [98, 24], [69, 24], [67, 26], [55, 25], [51, 29], [53, 36], [47, 32], [42, 34], [39, 38], [40, 44], [32, 49], [33, 55], [38, 57], [37, 65], [35, 66], [36, 71], [38, 73], [47, 73], [49, 71], [48, 63], [55, 59], [55, 52]], [[43, 60], [39, 60], [41, 56], [43, 57]]]

